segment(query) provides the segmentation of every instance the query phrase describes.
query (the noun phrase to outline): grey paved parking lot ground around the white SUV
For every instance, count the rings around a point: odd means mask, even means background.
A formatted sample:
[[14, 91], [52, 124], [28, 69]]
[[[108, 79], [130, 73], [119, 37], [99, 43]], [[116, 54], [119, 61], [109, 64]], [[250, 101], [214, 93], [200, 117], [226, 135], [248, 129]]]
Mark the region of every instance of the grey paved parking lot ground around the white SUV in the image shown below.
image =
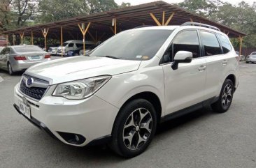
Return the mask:
[[21, 74], [0, 71], [0, 167], [256, 167], [256, 64], [241, 63], [240, 69], [227, 113], [206, 108], [167, 121], [145, 153], [131, 159], [106, 147], [77, 148], [46, 135], [13, 108], [13, 87]]

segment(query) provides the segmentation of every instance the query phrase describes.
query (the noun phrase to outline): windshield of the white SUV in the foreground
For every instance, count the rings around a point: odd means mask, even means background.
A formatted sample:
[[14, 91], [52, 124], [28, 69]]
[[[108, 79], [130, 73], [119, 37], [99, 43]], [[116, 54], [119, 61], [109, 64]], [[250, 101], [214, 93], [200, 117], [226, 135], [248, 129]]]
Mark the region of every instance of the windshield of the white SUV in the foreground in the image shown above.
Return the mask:
[[171, 32], [172, 30], [163, 29], [124, 31], [94, 49], [90, 56], [111, 56], [128, 60], [152, 59]]

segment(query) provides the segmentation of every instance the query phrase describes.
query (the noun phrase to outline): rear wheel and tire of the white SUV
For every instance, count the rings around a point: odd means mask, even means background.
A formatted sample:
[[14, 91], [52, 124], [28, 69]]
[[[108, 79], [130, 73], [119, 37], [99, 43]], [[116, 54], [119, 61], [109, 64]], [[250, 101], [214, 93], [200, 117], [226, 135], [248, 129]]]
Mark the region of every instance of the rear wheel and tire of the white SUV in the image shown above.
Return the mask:
[[234, 84], [232, 80], [225, 79], [220, 91], [220, 96], [217, 102], [211, 105], [214, 112], [225, 113], [232, 104], [234, 94]]

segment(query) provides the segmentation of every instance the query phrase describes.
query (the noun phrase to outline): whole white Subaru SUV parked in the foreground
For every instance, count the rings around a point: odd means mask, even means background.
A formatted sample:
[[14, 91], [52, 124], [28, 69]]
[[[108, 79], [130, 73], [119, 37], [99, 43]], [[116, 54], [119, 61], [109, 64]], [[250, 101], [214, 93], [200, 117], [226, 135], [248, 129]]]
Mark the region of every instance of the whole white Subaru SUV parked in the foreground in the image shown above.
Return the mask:
[[157, 123], [206, 105], [226, 112], [238, 65], [229, 38], [213, 26], [131, 29], [90, 55], [32, 66], [15, 86], [14, 107], [66, 144], [108, 143], [133, 157]]

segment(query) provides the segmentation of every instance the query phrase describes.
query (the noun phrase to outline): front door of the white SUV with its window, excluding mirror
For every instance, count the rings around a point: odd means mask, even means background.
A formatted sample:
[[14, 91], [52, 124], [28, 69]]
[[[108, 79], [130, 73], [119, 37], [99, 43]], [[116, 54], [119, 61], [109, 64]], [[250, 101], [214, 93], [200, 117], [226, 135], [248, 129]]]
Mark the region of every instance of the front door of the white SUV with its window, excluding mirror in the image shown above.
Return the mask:
[[[192, 52], [191, 63], [180, 63], [177, 70], [171, 68], [178, 51]], [[178, 33], [163, 56], [166, 114], [176, 112], [204, 101], [206, 84], [206, 60], [201, 57], [197, 30]], [[170, 63], [169, 63], [170, 62]]]

